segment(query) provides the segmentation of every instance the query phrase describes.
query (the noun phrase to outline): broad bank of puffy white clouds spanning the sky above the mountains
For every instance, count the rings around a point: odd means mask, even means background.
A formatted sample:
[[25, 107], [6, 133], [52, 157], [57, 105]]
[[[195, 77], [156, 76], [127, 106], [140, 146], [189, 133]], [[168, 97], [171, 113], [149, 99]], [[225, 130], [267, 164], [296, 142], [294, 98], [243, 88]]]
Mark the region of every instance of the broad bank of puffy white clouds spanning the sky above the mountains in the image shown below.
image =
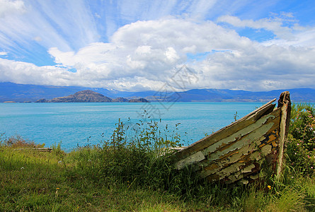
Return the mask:
[[[220, 21], [292, 34], [292, 29], [283, 27], [279, 20], [258, 23], [225, 16]], [[183, 64], [187, 64], [197, 81], [187, 83], [185, 89], [313, 88], [313, 33], [314, 29], [300, 30], [299, 36], [294, 35], [294, 41], [277, 33], [281, 35], [280, 45], [250, 40], [212, 21], [143, 20], [122, 26], [108, 42], [92, 42], [77, 51], [51, 47], [48, 52], [58, 66], [38, 67], [0, 59], [0, 78], [15, 83], [159, 90], [173, 80]], [[300, 45], [290, 45], [290, 42]], [[205, 58], [188, 62], [188, 54], [205, 54]], [[67, 71], [72, 68], [76, 72]]]

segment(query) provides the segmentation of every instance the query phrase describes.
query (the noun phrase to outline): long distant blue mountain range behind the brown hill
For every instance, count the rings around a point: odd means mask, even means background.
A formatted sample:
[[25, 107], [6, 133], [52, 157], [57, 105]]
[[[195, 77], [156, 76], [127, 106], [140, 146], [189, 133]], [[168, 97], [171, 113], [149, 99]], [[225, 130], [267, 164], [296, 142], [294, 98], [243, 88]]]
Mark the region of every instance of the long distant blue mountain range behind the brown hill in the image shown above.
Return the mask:
[[[251, 92], [246, 90], [222, 89], [193, 89], [183, 92], [163, 93], [154, 90], [130, 92], [108, 90], [105, 88], [84, 88], [74, 86], [35, 86], [16, 83], [0, 83], [0, 102], [35, 102], [40, 99], [52, 100], [53, 98], [73, 95], [82, 90], [92, 90], [101, 93], [110, 99], [125, 98], [126, 100], [145, 98], [150, 102], [266, 102], [279, 98], [285, 90], [271, 90]], [[293, 102], [315, 102], [315, 90], [311, 88], [288, 89]], [[118, 100], [119, 101], [119, 100]], [[121, 99], [123, 101], [123, 99]]]

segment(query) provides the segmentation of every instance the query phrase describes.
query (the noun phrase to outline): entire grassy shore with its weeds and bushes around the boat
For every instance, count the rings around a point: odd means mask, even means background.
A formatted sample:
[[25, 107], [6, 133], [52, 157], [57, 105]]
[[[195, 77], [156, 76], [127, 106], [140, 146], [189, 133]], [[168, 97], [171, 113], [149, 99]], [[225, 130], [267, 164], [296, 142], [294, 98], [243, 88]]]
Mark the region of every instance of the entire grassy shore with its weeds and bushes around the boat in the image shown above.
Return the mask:
[[161, 134], [157, 122], [140, 122], [130, 138], [119, 121], [110, 139], [69, 153], [60, 143], [33, 151], [41, 146], [1, 134], [0, 211], [315, 211], [314, 117], [313, 106], [294, 105], [282, 181], [251, 185], [174, 170], [163, 150], [181, 138]]

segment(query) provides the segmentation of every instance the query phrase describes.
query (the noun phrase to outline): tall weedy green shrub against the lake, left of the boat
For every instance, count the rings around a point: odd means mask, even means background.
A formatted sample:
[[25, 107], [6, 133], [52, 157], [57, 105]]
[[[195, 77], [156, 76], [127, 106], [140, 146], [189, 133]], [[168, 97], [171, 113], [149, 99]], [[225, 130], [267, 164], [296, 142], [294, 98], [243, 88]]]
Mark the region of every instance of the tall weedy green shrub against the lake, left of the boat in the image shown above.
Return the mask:
[[[135, 127], [134, 127], [135, 126]], [[134, 136], [128, 130], [132, 131]], [[180, 146], [180, 139], [173, 134], [170, 139], [161, 135], [159, 123], [150, 121], [125, 127], [118, 121], [111, 139], [101, 147], [101, 172], [105, 178], [132, 185], [163, 188], [171, 170], [171, 148]]]

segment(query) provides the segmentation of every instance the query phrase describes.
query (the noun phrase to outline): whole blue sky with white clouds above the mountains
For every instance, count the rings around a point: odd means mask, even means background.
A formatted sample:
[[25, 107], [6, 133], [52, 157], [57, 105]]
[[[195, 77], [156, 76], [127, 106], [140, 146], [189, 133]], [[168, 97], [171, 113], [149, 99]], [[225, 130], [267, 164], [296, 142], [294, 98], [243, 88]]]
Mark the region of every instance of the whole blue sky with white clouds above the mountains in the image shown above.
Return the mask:
[[0, 82], [315, 88], [314, 11], [314, 0], [0, 0]]

